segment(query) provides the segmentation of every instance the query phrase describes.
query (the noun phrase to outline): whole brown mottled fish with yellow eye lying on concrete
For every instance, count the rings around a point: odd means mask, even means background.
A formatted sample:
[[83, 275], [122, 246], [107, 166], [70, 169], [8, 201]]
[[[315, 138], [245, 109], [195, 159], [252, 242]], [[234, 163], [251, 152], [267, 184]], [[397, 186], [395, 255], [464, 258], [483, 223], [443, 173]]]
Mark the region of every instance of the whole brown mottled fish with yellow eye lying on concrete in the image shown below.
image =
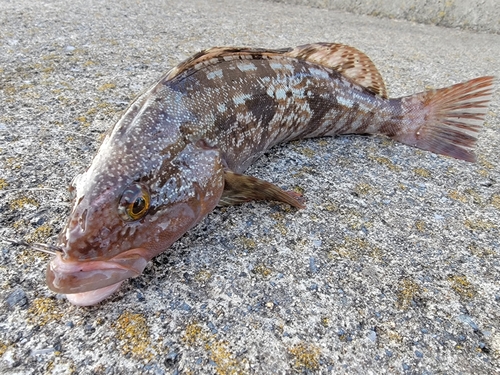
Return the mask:
[[339, 43], [214, 47], [165, 73], [128, 106], [88, 169], [48, 287], [78, 306], [108, 298], [216, 206], [301, 197], [244, 172], [274, 145], [374, 134], [474, 162], [495, 77], [389, 98], [374, 63]]

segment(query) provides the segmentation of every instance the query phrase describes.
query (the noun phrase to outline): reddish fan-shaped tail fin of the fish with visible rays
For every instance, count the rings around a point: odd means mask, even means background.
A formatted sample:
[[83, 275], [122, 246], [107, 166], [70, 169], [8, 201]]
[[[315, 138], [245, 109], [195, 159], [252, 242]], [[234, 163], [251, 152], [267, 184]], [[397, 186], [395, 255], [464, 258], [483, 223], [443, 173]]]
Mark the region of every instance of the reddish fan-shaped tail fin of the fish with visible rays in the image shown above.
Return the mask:
[[[474, 146], [493, 93], [495, 77], [480, 77], [402, 98], [406, 131], [392, 138], [436, 154], [476, 161]], [[415, 112], [418, 111], [418, 112]], [[415, 119], [423, 116], [424, 123]]]

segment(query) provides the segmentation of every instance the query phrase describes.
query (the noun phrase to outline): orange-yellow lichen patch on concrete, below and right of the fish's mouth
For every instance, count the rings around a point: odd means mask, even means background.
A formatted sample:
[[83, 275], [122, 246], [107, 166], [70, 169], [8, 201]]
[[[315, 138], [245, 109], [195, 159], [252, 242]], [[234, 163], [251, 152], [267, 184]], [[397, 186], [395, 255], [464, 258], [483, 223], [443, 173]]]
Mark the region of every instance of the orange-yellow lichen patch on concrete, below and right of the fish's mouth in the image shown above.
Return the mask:
[[151, 359], [149, 326], [142, 314], [125, 311], [113, 324], [117, 338], [122, 343], [123, 354], [132, 354], [136, 358]]

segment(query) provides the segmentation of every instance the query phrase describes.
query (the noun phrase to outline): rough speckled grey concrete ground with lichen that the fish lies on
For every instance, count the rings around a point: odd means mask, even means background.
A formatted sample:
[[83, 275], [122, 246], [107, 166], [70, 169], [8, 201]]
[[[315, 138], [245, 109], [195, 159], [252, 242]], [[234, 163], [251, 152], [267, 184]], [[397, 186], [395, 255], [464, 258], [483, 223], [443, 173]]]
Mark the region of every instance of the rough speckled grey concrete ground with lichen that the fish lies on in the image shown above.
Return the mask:
[[[106, 129], [201, 49], [343, 42], [393, 97], [500, 75], [498, 35], [271, 2], [4, 0], [0, 25], [0, 235], [46, 243]], [[498, 373], [499, 103], [476, 164], [380, 137], [276, 147], [248, 173], [306, 209], [216, 209], [94, 307], [1, 244], [0, 372]]]

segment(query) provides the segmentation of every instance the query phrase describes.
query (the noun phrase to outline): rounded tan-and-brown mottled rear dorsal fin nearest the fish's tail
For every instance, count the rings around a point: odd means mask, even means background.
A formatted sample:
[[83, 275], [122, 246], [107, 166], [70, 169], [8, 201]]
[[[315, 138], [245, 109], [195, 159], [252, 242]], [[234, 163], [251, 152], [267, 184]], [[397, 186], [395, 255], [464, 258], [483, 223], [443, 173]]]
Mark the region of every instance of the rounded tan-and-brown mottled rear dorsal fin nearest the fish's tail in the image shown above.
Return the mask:
[[285, 53], [336, 70], [373, 94], [387, 98], [380, 72], [360, 50], [338, 43], [314, 43], [298, 46]]

